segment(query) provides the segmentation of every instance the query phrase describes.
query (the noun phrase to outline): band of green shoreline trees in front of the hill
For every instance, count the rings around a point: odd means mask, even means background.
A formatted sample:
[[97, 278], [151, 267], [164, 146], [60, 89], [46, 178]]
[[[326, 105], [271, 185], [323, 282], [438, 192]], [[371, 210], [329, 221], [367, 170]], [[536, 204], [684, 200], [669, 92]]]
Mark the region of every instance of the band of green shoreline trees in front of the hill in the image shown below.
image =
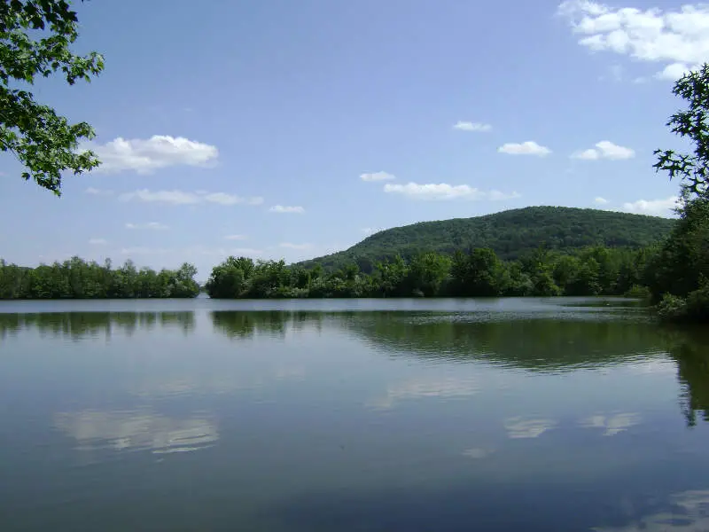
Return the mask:
[[371, 274], [354, 263], [323, 274], [283, 261], [229, 257], [212, 270], [206, 291], [214, 298], [622, 295], [643, 284], [648, 254], [594, 246], [566, 255], [541, 247], [503, 262], [491, 249], [474, 248], [452, 258], [396, 255], [375, 262]]

